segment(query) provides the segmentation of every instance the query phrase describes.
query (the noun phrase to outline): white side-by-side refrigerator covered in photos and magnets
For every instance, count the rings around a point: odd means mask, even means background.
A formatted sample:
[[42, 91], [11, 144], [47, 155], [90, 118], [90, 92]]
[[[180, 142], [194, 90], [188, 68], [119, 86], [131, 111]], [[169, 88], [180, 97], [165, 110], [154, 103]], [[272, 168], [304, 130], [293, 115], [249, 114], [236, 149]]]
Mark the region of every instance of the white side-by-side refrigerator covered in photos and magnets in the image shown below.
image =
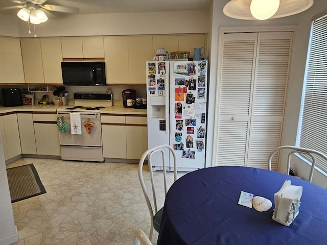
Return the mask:
[[[204, 168], [207, 61], [148, 61], [146, 72], [148, 148], [170, 144], [179, 171]], [[161, 156], [156, 158], [152, 170], [162, 170]]]

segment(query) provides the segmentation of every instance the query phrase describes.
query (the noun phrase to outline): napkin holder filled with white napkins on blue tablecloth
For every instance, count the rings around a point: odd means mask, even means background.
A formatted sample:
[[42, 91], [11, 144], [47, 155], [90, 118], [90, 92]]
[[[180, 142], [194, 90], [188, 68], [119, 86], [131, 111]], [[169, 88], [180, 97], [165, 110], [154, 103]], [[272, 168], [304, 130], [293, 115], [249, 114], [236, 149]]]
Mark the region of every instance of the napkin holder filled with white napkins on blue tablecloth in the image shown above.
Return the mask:
[[292, 224], [299, 213], [302, 186], [291, 185], [287, 180], [274, 194], [275, 208], [272, 219], [284, 226]]

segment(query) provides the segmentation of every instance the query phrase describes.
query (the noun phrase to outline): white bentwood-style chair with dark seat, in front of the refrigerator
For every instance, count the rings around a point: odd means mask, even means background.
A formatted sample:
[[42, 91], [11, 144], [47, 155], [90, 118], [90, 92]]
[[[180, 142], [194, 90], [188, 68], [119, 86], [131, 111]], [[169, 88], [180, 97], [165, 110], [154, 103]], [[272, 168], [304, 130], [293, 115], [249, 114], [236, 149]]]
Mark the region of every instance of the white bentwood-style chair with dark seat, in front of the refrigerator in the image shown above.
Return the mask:
[[[176, 158], [176, 153], [175, 153], [174, 149], [170, 145], [162, 144], [162, 145], [155, 146], [154, 148], [151, 148], [151, 149], [147, 150], [142, 155], [141, 159], [139, 159], [138, 178], [139, 178], [139, 182], [141, 183], [141, 187], [142, 187], [144, 197], [145, 197], [145, 200], [147, 202], [148, 209], [149, 209], [149, 212], [150, 212], [150, 217], [151, 217], [151, 228], [150, 228], [150, 235], [149, 235], [150, 239], [152, 239], [153, 228], [157, 232], [159, 232], [161, 216], [162, 216], [162, 209], [163, 209], [163, 208], [161, 208], [161, 209], [158, 210], [158, 207], [157, 207], [154, 177], [153, 177], [153, 173], [152, 173], [152, 170], [151, 170], [152, 165], [153, 165], [152, 157], [153, 157], [154, 153], [161, 153], [161, 156], [162, 156], [161, 161], [162, 161], [162, 167], [163, 167], [162, 173], [164, 175], [165, 197], [166, 197], [166, 194], [167, 194], [166, 159], [169, 158], [170, 155], [172, 156], [170, 161], [174, 165], [174, 182], [177, 180], [177, 161], [176, 161], [177, 158]], [[147, 191], [147, 188], [146, 188], [146, 185], [145, 185], [145, 182], [144, 182], [144, 178], [143, 178], [143, 164], [144, 164], [144, 161], [145, 161], [147, 156], [148, 156], [149, 169], [150, 169], [150, 179], [151, 179], [151, 185], [152, 185], [153, 207], [151, 205], [149, 194], [148, 194], [148, 191]]]

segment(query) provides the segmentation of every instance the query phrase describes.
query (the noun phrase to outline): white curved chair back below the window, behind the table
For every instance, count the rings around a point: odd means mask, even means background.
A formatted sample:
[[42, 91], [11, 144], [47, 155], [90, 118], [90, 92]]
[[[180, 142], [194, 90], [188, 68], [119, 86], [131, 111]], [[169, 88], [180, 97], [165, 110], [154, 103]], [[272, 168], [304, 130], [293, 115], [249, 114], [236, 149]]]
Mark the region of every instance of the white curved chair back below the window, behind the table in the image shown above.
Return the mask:
[[282, 151], [282, 150], [291, 150], [291, 152], [288, 154], [288, 160], [287, 160], [287, 175], [289, 175], [289, 169], [291, 166], [291, 156], [293, 154], [299, 153], [299, 154], [306, 154], [308, 156], [311, 157], [312, 161], [311, 161], [311, 170], [310, 170], [310, 175], [309, 175], [309, 182], [312, 181], [312, 177], [313, 177], [313, 171], [315, 169], [315, 165], [316, 165], [316, 156], [320, 156], [321, 158], [325, 159], [327, 161], [327, 156], [321, 152], [315, 151], [315, 150], [311, 150], [311, 149], [306, 149], [306, 148], [300, 148], [300, 147], [295, 147], [292, 145], [284, 145], [284, 146], [280, 146], [277, 149], [275, 149], [268, 157], [268, 169], [271, 170], [271, 159], [273, 158], [274, 154]]

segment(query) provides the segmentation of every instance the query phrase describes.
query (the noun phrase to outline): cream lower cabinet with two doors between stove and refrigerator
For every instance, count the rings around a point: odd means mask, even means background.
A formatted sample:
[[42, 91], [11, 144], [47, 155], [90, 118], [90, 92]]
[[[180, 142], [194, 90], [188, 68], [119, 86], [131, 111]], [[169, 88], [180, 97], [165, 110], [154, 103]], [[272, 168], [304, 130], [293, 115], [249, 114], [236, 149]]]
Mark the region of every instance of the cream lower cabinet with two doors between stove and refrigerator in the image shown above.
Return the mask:
[[139, 159], [148, 149], [147, 117], [101, 115], [103, 156]]

